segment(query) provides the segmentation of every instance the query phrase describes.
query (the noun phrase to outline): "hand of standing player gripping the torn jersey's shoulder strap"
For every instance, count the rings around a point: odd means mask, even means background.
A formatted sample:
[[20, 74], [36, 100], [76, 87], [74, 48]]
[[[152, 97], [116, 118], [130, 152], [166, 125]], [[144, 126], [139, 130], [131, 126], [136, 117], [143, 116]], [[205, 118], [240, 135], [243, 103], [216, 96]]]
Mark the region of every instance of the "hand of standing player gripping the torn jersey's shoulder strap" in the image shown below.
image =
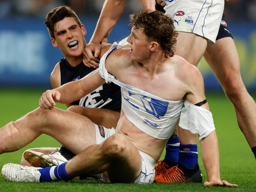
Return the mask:
[[99, 43], [89, 43], [84, 48], [83, 52], [83, 62], [86, 67], [98, 67], [98, 57], [101, 50], [101, 44]]

